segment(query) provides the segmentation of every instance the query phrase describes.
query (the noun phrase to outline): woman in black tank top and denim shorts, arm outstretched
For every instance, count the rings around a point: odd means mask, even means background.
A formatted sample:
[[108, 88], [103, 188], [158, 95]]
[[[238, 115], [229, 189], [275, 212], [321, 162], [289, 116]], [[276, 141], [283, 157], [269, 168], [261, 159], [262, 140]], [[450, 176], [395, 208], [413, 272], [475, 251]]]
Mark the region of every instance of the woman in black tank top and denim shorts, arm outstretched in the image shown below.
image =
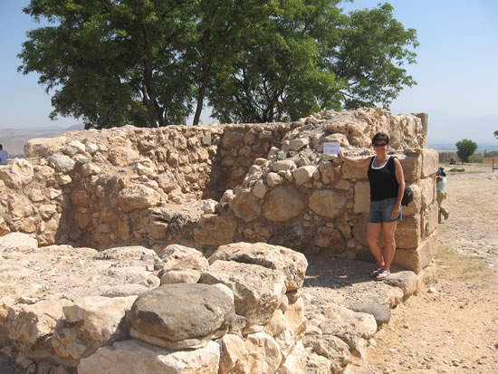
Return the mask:
[[[388, 155], [389, 137], [378, 132], [372, 138], [376, 155], [371, 158], [352, 159], [342, 152], [338, 156], [345, 164], [356, 168], [369, 168], [370, 211], [367, 224], [367, 243], [377, 261], [377, 269], [370, 276], [378, 281], [388, 278], [396, 252], [395, 232], [401, 221], [401, 199], [405, 192], [405, 177], [401, 163]], [[380, 230], [384, 232], [385, 248], [378, 245]]]

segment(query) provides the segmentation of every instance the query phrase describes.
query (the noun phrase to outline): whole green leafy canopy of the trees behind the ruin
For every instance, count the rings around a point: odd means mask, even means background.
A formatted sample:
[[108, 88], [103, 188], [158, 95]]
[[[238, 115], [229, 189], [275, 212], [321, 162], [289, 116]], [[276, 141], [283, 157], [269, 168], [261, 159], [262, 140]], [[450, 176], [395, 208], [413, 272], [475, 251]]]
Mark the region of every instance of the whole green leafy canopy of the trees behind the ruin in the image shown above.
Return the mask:
[[297, 120], [382, 106], [416, 82], [417, 33], [340, 0], [31, 0], [21, 72], [86, 128]]

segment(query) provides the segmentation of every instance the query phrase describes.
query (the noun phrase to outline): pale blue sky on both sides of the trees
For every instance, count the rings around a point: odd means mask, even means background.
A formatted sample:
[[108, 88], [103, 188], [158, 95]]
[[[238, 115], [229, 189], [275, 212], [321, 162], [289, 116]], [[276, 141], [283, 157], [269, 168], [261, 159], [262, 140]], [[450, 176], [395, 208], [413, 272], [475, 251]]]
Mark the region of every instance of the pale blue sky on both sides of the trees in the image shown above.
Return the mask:
[[[353, 8], [371, 8], [378, 0], [357, 0]], [[498, 1], [391, 0], [395, 18], [417, 30], [417, 64], [407, 71], [417, 86], [402, 91], [391, 105], [393, 114], [429, 114], [429, 143], [459, 139], [493, 142], [498, 129]], [[69, 127], [72, 118], [48, 119], [50, 95], [34, 73], [16, 71], [26, 31], [36, 24], [22, 8], [29, 0], [0, 2], [0, 129]], [[205, 123], [209, 120], [205, 118]]]

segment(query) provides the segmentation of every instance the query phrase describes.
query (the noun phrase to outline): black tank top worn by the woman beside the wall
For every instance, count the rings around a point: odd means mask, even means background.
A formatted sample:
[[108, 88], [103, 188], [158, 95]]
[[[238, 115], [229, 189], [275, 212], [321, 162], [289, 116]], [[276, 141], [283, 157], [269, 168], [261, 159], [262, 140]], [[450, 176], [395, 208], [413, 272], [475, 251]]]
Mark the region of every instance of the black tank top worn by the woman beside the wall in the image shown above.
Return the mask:
[[394, 157], [389, 156], [386, 164], [381, 168], [374, 168], [373, 162], [375, 157], [370, 159], [369, 165], [369, 182], [370, 182], [370, 200], [378, 201], [389, 197], [397, 197], [397, 188], [399, 187], [396, 178], [396, 165]]

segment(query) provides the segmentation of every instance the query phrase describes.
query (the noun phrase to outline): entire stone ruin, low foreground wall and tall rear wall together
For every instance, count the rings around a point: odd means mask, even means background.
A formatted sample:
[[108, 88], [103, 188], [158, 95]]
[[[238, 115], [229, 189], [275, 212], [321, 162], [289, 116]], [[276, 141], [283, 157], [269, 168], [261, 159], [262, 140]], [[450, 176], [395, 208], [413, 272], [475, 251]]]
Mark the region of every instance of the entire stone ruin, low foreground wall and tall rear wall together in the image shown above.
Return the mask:
[[340, 372], [378, 318], [337, 307], [358, 339], [336, 333], [327, 351], [303, 339], [305, 255], [368, 255], [366, 171], [323, 143], [365, 157], [378, 131], [415, 195], [397, 229], [395, 264], [408, 272], [393, 281], [394, 305], [436, 254], [424, 115], [324, 111], [30, 140], [25, 159], [0, 168], [0, 348], [38, 373]]

